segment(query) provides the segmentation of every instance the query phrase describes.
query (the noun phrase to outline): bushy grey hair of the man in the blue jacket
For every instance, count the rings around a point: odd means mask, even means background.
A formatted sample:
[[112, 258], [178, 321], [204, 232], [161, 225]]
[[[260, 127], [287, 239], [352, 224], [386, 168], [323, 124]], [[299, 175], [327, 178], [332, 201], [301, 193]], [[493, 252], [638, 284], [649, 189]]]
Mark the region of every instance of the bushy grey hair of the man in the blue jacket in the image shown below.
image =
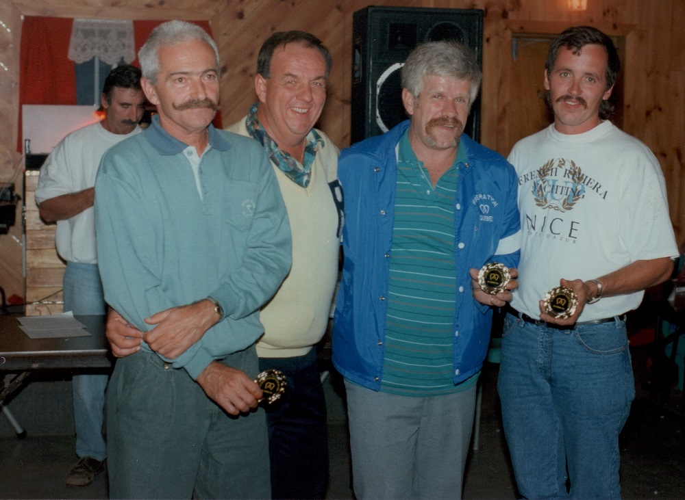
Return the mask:
[[469, 106], [473, 105], [483, 78], [475, 53], [462, 43], [447, 40], [419, 45], [410, 53], [401, 70], [402, 88], [419, 97], [425, 79], [433, 75], [470, 81]]

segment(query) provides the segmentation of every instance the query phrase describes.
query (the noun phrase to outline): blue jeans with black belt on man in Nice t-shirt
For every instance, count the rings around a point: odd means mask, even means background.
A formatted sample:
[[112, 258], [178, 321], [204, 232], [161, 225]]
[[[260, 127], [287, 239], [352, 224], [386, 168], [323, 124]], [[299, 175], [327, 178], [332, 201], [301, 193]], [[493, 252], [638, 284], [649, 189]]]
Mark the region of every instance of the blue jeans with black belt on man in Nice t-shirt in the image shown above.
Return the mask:
[[625, 321], [560, 330], [507, 314], [497, 389], [523, 497], [621, 497], [619, 433], [635, 396]]

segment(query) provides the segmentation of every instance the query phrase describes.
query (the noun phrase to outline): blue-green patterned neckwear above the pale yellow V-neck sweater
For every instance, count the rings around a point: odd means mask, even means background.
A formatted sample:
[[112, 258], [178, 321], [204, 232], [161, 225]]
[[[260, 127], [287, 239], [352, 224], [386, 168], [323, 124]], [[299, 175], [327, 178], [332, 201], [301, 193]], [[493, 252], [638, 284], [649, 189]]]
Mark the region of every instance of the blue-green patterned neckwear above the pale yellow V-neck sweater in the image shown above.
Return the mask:
[[314, 163], [314, 157], [316, 157], [316, 151], [319, 149], [319, 144], [323, 145], [321, 136], [316, 133], [314, 129], [307, 134], [305, 137], [304, 146], [304, 163], [300, 163], [286, 151], [282, 151], [278, 148], [278, 144], [269, 137], [266, 133], [262, 124], [257, 120], [257, 104], [254, 103], [247, 113], [247, 118], [245, 119], [245, 126], [247, 127], [247, 132], [264, 146], [266, 153], [269, 155], [269, 159], [275, 163], [279, 169], [282, 170], [290, 179], [301, 185], [302, 187], [307, 187], [309, 185], [310, 178], [312, 176], [312, 163]]

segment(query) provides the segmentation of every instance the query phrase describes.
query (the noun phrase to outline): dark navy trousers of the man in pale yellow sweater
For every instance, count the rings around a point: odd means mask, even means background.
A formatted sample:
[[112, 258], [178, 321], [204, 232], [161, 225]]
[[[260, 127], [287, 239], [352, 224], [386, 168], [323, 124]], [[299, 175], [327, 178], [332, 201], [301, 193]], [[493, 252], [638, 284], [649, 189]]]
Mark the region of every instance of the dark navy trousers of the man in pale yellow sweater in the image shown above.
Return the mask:
[[272, 499], [324, 499], [328, 489], [326, 403], [316, 349], [297, 358], [260, 358], [286, 375], [286, 392], [266, 406]]

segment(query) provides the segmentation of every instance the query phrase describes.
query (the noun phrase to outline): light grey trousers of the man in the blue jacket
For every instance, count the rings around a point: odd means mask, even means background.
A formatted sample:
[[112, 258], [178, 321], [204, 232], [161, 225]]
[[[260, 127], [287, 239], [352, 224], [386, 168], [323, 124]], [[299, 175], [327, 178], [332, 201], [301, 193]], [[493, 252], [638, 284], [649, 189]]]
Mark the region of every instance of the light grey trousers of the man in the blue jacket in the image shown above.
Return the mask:
[[410, 397], [345, 380], [358, 500], [458, 499], [469, 454], [476, 386]]

